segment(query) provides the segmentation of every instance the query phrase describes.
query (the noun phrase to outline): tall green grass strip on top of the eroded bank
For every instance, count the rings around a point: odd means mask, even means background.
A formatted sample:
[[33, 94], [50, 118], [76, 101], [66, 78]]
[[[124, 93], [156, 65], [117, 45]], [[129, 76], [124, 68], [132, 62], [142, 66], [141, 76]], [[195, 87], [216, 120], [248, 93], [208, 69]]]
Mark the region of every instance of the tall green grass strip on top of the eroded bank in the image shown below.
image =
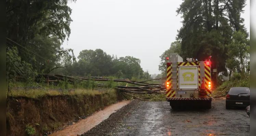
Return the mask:
[[[69, 82], [68, 79], [64, 81], [49, 82], [49, 85], [45, 82], [45, 79], [40, 78], [39, 82], [34, 82], [33, 79], [28, 82], [10, 82], [10, 92], [6, 91], [6, 95], [9, 96], [25, 96], [30, 98], [38, 98], [43, 96], [56, 96], [56, 95], [76, 95], [76, 94], [101, 94], [103, 92], [112, 91], [116, 86], [137, 86], [125, 82], [114, 82], [116, 77], [110, 78], [109, 81], [95, 81], [93, 79], [87, 81], [74, 80]], [[146, 79], [132, 78], [131, 80], [144, 81]], [[147, 83], [155, 83], [157, 81], [147, 81]], [[98, 84], [104, 84], [105, 86], [98, 86]]]

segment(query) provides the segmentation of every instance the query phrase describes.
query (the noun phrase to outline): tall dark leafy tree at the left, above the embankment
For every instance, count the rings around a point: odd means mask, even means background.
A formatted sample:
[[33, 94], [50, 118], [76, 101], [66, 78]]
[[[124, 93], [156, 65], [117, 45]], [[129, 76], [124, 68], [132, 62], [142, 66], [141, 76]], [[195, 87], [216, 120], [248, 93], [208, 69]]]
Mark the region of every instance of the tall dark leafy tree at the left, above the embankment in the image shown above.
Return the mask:
[[21, 61], [32, 64], [37, 72], [59, 67], [60, 57], [73, 53], [60, 47], [71, 33], [68, 1], [75, 0], [6, 1], [7, 47], [17, 47]]

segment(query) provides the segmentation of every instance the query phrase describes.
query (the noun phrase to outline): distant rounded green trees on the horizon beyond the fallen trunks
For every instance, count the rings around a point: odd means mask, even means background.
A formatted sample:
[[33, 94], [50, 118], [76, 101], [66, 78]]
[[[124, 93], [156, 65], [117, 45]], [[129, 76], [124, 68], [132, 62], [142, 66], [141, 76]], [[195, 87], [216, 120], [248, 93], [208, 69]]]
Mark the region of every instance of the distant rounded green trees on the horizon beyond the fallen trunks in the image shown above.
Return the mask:
[[62, 65], [68, 66], [63, 69], [56, 69], [54, 73], [65, 73], [70, 76], [115, 76], [117, 79], [139, 77], [140, 79], [151, 79], [151, 75], [142, 70], [140, 59], [126, 56], [120, 57], [108, 55], [101, 49], [82, 50], [78, 56], [78, 62], [63, 57]]

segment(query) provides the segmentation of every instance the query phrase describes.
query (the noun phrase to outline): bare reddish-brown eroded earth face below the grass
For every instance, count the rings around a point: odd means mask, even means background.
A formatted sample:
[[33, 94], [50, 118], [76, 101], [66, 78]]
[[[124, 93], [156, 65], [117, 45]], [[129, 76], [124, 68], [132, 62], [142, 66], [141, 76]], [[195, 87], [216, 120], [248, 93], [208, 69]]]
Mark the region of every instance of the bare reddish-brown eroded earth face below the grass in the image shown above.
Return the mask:
[[86, 118], [105, 106], [124, 100], [114, 93], [99, 95], [8, 97], [7, 135], [47, 135], [64, 125]]

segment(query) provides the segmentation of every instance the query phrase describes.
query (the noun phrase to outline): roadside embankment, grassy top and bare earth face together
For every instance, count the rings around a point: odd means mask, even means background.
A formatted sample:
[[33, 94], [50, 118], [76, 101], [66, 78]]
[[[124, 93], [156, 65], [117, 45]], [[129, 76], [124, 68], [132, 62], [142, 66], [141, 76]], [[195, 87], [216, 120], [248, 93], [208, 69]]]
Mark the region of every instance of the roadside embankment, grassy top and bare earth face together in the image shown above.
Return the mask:
[[[152, 83], [154, 81], [151, 81]], [[107, 87], [97, 87], [105, 84]], [[45, 83], [11, 82], [7, 100], [7, 133], [11, 135], [40, 135], [58, 130], [67, 122], [86, 117], [124, 99], [131, 99], [114, 90], [113, 81], [85, 81], [69, 84], [61, 81], [58, 85]], [[128, 84], [128, 86], [133, 86]], [[161, 99], [164, 96], [146, 99]]]

